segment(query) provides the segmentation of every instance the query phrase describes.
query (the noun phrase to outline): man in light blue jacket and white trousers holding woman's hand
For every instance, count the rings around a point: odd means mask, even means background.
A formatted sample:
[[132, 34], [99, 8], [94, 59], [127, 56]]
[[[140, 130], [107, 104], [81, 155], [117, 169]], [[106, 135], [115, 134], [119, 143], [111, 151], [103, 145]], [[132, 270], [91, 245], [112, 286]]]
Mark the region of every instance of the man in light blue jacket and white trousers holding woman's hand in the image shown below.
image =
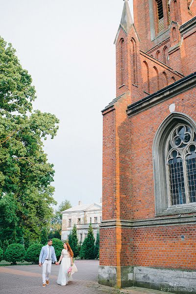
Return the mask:
[[42, 280], [43, 287], [49, 285], [49, 275], [51, 271], [51, 264], [55, 263], [55, 265], [59, 265], [56, 259], [56, 254], [54, 251], [54, 247], [52, 246], [52, 240], [48, 240], [48, 244], [42, 247], [39, 258], [39, 266], [42, 267]]

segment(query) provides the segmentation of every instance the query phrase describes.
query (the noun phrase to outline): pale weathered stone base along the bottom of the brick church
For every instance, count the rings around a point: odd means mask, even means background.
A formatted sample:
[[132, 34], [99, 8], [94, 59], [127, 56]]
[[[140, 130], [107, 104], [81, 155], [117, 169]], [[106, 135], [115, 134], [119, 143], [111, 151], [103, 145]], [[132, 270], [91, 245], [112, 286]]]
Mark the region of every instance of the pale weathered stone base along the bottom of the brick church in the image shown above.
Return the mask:
[[[99, 266], [98, 283], [117, 285], [117, 268]], [[148, 267], [121, 267], [121, 287], [144, 287], [162, 292], [196, 294], [196, 271]]]

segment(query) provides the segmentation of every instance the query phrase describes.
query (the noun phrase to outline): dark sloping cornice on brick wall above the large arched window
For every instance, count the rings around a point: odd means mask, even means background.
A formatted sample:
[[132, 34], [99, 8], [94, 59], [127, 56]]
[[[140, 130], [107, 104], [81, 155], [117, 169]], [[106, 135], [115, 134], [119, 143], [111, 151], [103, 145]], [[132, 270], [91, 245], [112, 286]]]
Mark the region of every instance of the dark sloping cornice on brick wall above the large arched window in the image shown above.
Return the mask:
[[170, 99], [176, 95], [184, 93], [196, 87], [196, 72], [191, 73], [173, 84], [135, 102], [127, 107], [127, 115], [129, 117], [136, 115], [148, 108]]

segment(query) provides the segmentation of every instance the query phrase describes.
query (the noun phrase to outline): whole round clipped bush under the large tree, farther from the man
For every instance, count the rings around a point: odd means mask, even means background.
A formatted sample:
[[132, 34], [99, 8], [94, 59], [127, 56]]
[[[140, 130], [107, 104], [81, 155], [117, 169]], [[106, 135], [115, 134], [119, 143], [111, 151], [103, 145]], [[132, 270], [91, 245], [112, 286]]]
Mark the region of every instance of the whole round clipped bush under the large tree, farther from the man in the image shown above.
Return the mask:
[[25, 260], [25, 247], [22, 244], [10, 244], [4, 253], [4, 259], [7, 262], [16, 264], [17, 261]]

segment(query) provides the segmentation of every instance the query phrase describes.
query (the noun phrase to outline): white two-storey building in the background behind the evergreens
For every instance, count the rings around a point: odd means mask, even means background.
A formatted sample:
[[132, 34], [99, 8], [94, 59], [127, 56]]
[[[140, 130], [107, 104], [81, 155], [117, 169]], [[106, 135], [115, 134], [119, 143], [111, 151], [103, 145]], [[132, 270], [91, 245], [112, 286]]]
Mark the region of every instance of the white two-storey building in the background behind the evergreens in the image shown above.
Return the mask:
[[99, 224], [102, 220], [102, 203], [82, 204], [62, 211], [61, 240], [68, 240], [68, 236], [76, 224], [78, 241], [83, 242], [87, 237], [89, 224], [92, 224], [96, 240]]

